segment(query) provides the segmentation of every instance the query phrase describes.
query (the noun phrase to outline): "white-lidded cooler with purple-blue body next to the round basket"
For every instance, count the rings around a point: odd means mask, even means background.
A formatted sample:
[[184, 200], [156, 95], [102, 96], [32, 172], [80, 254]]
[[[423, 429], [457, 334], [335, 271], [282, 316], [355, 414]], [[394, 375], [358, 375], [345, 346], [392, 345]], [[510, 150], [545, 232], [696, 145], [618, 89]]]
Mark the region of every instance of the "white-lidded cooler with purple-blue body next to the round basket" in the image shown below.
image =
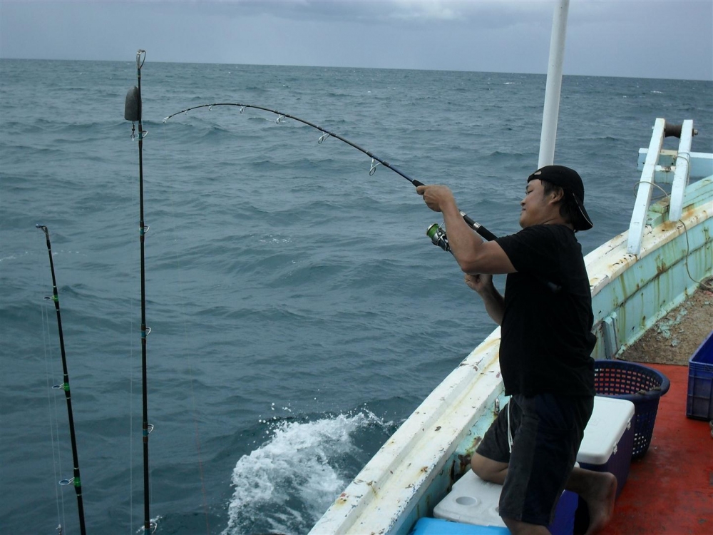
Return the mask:
[[611, 472], [617, 478], [617, 496], [629, 475], [634, 447], [634, 404], [626, 399], [595, 396], [594, 411], [577, 454], [580, 467]]

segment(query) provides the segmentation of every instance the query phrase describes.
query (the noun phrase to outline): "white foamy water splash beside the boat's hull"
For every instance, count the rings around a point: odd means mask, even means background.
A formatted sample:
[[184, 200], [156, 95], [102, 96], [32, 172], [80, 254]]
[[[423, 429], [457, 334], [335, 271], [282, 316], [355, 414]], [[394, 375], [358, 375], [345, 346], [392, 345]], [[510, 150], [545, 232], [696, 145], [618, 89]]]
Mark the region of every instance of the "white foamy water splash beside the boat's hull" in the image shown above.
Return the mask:
[[356, 449], [352, 433], [374, 423], [383, 424], [366, 412], [277, 424], [272, 439], [233, 469], [222, 535], [252, 533], [256, 521], [275, 533], [307, 531], [347, 484], [334, 465]]

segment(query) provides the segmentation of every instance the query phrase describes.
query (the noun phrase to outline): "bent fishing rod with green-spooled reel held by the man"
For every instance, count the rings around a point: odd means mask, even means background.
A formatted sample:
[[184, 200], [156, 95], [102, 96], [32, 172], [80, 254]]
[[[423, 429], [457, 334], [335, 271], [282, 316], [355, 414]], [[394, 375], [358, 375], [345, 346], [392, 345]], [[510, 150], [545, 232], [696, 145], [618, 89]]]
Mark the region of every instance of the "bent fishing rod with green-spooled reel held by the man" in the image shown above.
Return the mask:
[[[365, 148], [362, 148], [361, 146], [357, 145], [356, 143], [352, 143], [352, 141], [349, 141], [347, 138], [339, 136], [339, 134], [337, 134], [337, 133], [334, 133], [334, 132], [329, 131], [325, 128], [322, 128], [322, 126], [311, 123], [310, 121], [305, 121], [304, 119], [290, 115], [289, 113], [282, 113], [282, 111], [273, 110], [271, 108], [265, 108], [265, 106], [255, 106], [253, 104], [241, 104], [241, 103], [237, 103], [237, 102], [216, 102], [216, 103], [212, 103], [212, 104], [200, 104], [200, 106], [192, 106], [190, 108], [185, 108], [185, 110], [181, 110], [181, 111], [177, 111], [176, 113], [172, 113], [170, 116], [163, 119], [163, 122], [165, 123], [170, 118], [180, 115], [181, 113], [188, 114], [189, 111], [197, 110], [200, 108], [208, 108], [208, 110], [210, 111], [212, 108], [215, 108], [215, 106], [237, 106], [238, 108], [240, 108], [240, 113], [245, 111], [245, 109], [247, 109], [247, 108], [267, 111], [269, 113], [275, 113], [275, 115], [277, 116], [275, 123], [277, 123], [277, 124], [282, 123], [282, 119], [288, 118], [288, 119], [292, 119], [293, 121], [297, 121], [298, 123], [302, 123], [307, 126], [311, 126], [312, 128], [322, 132], [322, 136], [319, 136], [319, 139], [317, 140], [317, 143], [319, 143], [320, 145], [322, 144], [322, 141], [324, 141], [327, 138], [330, 138], [330, 137], [337, 138], [339, 141], [347, 143], [347, 145], [356, 148], [357, 151], [361, 151], [362, 153], [366, 154], [366, 156], [369, 156], [369, 158], [371, 158], [371, 168], [369, 168], [369, 176], [374, 175], [374, 173], [376, 172], [376, 166], [380, 164], [380, 165], [384, 165], [384, 167], [386, 167], [386, 168], [391, 169], [397, 175], [401, 175], [402, 177], [406, 178], [406, 180], [409, 180], [409, 182], [416, 187], [418, 187], [419, 185], [424, 185], [424, 183], [419, 182], [419, 180], [411, 178], [409, 175], [404, 173], [404, 171], [402, 171], [401, 169], [396, 167], [396, 165], [391, 165], [391, 163], [384, 160], [383, 158], [379, 158], [379, 156], [376, 156], [376, 154], [372, 153], [371, 151], [367, 151]], [[486, 240], [492, 241], [492, 240], [496, 239], [496, 235], [491, 233], [491, 231], [488, 230], [487, 228], [483, 227], [483, 225], [476, 223], [476, 221], [474, 221], [472, 218], [470, 218], [466, 213], [461, 212], [461, 216], [463, 216], [463, 220], [465, 220], [465, 222], [468, 223], [468, 226], [470, 228], [475, 230], [476, 233], [481, 235]], [[426, 231], [426, 235], [428, 235], [429, 238], [431, 238], [431, 241], [434, 243], [434, 245], [438, 245], [443, 250], [450, 250], [450, 248], [446, 248], [446, 245], [448, 245], [448, 240], [446, 238], [446, 231], [443, 230], [443, 225], [436, 224], [435, 227], [434, 227], [434, 225], [431, 225], [431, 227], [429, 227], [429, 230]]]

